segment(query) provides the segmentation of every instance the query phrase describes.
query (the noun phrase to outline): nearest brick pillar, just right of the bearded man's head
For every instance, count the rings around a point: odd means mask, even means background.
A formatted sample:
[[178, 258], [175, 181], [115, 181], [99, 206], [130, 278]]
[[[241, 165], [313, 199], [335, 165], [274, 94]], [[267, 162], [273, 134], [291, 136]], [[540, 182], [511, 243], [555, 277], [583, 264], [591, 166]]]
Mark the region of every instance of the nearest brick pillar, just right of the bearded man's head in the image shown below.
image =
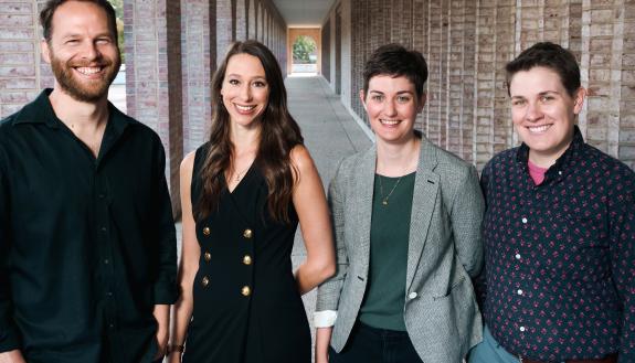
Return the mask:
[[[180, 213], [179, 163], [183, 158], [180, 1], [124, 4], [128, 115], [155, 129], [167, 154], [166, 175]], [[168, 52], [169, 50], [169, 52]]]

